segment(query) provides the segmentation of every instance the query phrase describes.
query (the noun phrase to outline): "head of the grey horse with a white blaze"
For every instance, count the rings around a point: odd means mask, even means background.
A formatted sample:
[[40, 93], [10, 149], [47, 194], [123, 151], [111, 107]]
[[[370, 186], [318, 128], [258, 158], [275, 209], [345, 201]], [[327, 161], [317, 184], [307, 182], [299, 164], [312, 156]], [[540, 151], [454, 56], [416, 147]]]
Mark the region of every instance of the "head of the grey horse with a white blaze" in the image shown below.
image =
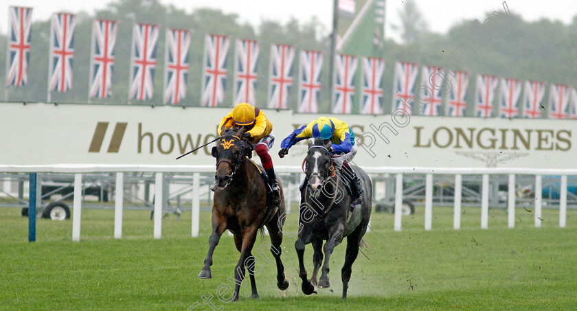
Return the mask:
[[322, 139], [315, 139], [315, 142], [308, 141], [308, 153], [306, 154], [306, 178], [308, 187], [315, 191], [323, 183], [334, 175], [335, 168], [330, 161], [330, 152], [328, 148], [332, 143], [325, 142]]

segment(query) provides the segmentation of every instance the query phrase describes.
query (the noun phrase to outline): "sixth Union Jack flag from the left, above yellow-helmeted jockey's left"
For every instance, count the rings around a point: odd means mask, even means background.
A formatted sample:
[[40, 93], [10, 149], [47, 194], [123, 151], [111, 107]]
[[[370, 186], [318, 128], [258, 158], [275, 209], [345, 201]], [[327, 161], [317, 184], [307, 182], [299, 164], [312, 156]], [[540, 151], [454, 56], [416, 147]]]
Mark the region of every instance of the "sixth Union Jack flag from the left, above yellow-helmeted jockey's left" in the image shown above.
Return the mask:
[[227, 81], [228, 36], [207, 34], [205, 36], [204, 79], [201, 105], [216, 107], [225, 98]]

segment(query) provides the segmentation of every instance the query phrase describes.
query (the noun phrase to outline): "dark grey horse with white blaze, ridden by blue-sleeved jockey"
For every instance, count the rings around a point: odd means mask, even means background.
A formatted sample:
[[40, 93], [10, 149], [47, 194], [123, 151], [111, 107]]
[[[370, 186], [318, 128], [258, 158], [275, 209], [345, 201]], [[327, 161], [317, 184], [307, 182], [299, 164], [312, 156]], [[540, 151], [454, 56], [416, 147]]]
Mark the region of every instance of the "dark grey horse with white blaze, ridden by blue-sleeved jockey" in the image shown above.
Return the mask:
[[[361, 168], [351, 165], [354, 172], [364, 183], [363, 204], [350, 212], [352, 197], [346, 190], [341, 172], [335, 172], [330, 160], [328, 146], [321, 139], [308, 146], [304, 166], [306, 180], [301, 188], [301, 207], [299, 216], [299, 237], [295, 249], [299, 257], [299, 277], [302, 279], [302, 291], [306, 295], [316, 292], [315, 286], [328, 288], [329, 260], [335, 246], [347, 238], [345, 264], [341, 269], [343, 281], [343, 299], [347, 297], [348, 282], [352, 272], [352, 263], [359, 255], [359, 247], [371, 216], [372, 184], [369, 176]], [[349, 218], [349, 220], [348, 220]], [[300, 228], [302, 226], [302, 229]], [[323, 246], [323, 240], [326, 243]], [[304, 249], [313, 244], [313, 275], [310, 281], [304, 268]], [[317, 283], [317, 273], [323, 261], [322, 275]]]

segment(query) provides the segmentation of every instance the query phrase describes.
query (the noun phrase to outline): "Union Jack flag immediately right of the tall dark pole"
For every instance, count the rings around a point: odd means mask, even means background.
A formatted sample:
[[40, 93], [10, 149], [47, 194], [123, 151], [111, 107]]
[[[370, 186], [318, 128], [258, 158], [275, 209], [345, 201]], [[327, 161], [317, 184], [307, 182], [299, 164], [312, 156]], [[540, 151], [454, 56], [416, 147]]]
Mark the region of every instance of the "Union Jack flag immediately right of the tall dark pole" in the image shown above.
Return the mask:
[[357, 76], [357, 56], [337, 54], [332, 90], [332, 113], [351, 113], [354, 99], [354, 78]]

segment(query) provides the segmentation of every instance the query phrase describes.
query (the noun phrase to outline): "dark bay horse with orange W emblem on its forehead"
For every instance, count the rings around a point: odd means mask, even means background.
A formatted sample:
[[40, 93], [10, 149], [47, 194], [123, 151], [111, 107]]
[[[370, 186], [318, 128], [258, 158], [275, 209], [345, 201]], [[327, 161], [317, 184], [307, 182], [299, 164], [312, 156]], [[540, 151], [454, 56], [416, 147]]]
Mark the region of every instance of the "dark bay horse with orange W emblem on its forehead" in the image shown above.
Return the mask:
[[[238, 132], [229, 130], [218, 140], [218, 145], [212, 148], [212, 155], [216, 158], [216, 189], [214, 189], [214, 205], [212, 206], [212, 234], [208, 240], [208, 253], [204, 261], [203, 270], [199, 274], [201, 279], [210, 279], [212, 273], [212, 253], [218, 245], [220, 235], [226, 229], [234, 234], [234, 244], [240, 251], [238, 264], [234, 269], [233, 300], [238, 300], [238, 290], [245, 279], [245, 266], [249, 270], [251, 279], [252, 298], [258, 298], [254, 279], [254, 264], [249, 264], [254, 257], [251, 253], [258, 229], [267, 226], [271, 236], [271, 253], [275, 257], [277, 267], [277, 286], [280, 290], [288, 288], [288, 281], [284, 277], [284, 266], [280, 260], [282, 231], [278, 226], [279, 217], [284, 214], [284, 200], [282, 181], [280, 186], [280, 206], [278, 209], [269, 209], [267, 213], [267, 183], [260, 176], [259, 169], [245, 154], [252, 152], [251, 145], [241, 139], [244, 128]], [[267, 219], [265, 219], [267, 218]], [[284, 218], [281, 219], [284, 223]], [[282, 228], [282, 227], [281, 227]]]

